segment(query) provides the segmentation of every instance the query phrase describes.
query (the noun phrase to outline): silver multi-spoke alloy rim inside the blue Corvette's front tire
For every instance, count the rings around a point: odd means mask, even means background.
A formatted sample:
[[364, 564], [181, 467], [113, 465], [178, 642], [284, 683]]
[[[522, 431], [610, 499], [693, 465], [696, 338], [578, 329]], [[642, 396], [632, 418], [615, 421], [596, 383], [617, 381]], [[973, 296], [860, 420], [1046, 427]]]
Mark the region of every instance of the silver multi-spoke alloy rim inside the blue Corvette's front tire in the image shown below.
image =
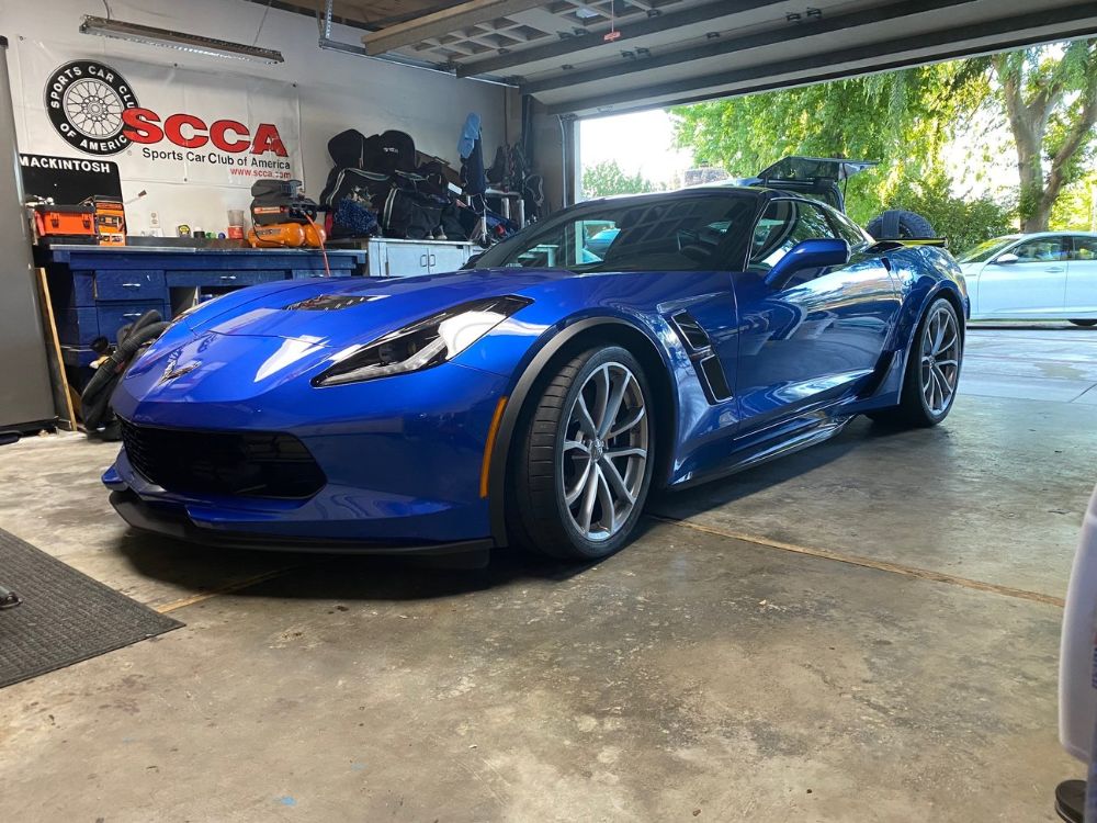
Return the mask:
[[644, 392], [624, 364], [600, 364], [567, 414], [559, 453], [562, 495], [572, 525], [589, 541], [617, 534], [636, 506], [648, 459]]

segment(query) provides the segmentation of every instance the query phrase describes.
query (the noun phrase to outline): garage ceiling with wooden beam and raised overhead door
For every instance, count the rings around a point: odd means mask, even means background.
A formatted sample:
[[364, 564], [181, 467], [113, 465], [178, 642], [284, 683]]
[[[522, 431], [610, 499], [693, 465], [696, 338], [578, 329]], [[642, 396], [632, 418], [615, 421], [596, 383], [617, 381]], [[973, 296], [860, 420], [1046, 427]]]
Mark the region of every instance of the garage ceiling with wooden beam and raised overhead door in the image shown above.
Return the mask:
[[335, 13], [372, 30], [371, 55], [510, 78], [578, 115], [1097, 35], [1097, 3], [1070, 0], [338, 0]]

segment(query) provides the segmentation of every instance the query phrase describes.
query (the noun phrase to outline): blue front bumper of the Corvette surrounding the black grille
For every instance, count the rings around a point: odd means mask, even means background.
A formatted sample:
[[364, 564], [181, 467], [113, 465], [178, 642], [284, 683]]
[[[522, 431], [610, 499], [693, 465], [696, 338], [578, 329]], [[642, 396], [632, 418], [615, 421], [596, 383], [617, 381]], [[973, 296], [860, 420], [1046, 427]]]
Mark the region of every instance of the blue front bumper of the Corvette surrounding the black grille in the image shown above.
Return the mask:
[[[360, 385], [317, 390], [293, 380], [262, 392], [245, 373], [233, 381], [241, 386], [237, 396], [229, 394], [234, 385], [227, 380], [215, 393], [208, 383], [185, 385], [190, 377], [146, 391], [123, 380], [115, 410], [135, 426], [167, 431], [207, 431], [216, 421], [222, 432], [292, 435], [325, 483], [315, 494], [292, 499], [183, 492], [136, 471], [123, 449], [103, 483], [158, 516], [134, 523], [138, 528], [167, 533], [167, 518], [177, 527], [189, 523], [195, 531], [185, 539], [201, 542], [226, 545], [242, 534], [252, 548], [287, 543], [386, 553], [478, 545], [491, 534], [480, 475], [505, 377], [445, 364]], [[131, 520], [132, 511], [126, 507], [121, 514]]]

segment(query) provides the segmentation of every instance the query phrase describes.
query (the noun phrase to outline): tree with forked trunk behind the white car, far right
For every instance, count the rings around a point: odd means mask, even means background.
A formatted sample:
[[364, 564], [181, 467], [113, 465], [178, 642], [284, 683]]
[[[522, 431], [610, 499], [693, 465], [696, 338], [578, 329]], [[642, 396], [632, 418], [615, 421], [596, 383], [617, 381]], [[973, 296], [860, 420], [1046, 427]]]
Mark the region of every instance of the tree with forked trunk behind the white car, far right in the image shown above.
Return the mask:
[[1025, 232], [1044, 232], [1063, 188], [1086, 172], [1097, 124], [1097, 40], [995, 55], [1017, 146]]

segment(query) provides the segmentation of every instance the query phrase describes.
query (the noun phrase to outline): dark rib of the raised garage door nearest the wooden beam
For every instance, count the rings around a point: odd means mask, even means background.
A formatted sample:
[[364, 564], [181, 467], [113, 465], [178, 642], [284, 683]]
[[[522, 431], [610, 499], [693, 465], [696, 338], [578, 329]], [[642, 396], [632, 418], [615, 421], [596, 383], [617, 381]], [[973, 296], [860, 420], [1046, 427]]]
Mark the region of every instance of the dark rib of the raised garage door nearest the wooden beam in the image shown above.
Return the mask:
[[[635, 37], [643, 37], [648, 34], [658, 34], [672, 29], [680, 29], [683, 25], [704, 23], [710, 20], [730, 18], [745, 11], [764, 9], [767, 5], [781, 5], [785, 0], [717, 0], [705, 5], [695, 5], [686, 11], [675, 13], [657, 14], [655, 16], [637, 20], [635, 23], [622, 23], [617, 27], [621, 33], [620, 40], [614, 42], [622, 48], [627, 48], [627, 42]], [[479, 60], [459, 64], [457, 77], [468, 77], [471, 75], [482, 75], [485, 71], [495, 72], [502, 69], [513, 68], [539, 60], [552, 60], [561, 57], [568, 57], [588, 48], [596, 48], [604, 45], [601, 33], [588, 33], [564, 37], [553, 43], [532, 48], [522, 48], [495, 57], [486, 57]]]

